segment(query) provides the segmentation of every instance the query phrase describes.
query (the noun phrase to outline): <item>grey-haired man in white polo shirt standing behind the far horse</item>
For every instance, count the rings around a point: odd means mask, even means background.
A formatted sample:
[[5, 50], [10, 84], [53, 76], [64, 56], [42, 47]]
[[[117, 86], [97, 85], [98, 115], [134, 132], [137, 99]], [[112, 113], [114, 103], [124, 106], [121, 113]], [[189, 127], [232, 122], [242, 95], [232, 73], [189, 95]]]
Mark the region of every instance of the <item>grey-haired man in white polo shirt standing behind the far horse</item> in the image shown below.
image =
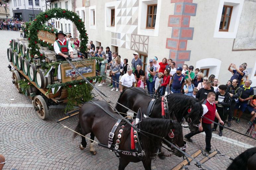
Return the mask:
[[127, 68], [127, 73], [125, 73], [120, 80], [121, 82], [120, 84], [121, 87], [119, 88], [120, 92], [122, 92], [123, 89], [134, 86], [135, 81], [136, 80], [135, 80], [134, 74], [132, 74], [132, 68], [131, 67]]

